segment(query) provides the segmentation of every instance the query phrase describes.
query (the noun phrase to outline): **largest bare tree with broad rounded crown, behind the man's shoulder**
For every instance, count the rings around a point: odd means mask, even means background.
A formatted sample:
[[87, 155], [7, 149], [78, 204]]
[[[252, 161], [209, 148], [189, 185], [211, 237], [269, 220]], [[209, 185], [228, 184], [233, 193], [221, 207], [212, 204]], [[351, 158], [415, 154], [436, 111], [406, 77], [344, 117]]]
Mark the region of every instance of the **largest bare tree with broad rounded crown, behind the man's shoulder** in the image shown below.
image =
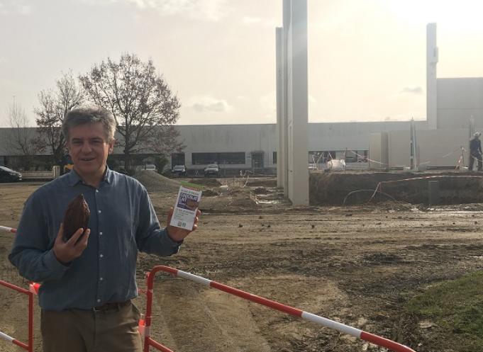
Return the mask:
[[116, 118], [126, 169], [131, 169], [132, 154], [183, 147], [172, 127], [179, 118], [179, 101], [152, 60], [141, 62], [134, 54], [122, 55], [119, 62], [108, 58], [79, 79], [89, 98]]

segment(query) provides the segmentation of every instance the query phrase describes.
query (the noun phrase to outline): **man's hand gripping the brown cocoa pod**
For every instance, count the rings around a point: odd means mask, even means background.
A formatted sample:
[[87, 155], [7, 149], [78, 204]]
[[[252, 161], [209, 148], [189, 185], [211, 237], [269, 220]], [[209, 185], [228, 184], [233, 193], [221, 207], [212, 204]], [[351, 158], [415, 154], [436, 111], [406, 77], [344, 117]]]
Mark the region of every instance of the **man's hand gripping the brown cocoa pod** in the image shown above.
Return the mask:
[[64, 225], [60, 224], [59, 233], [57, 234], [53, 247], [57, 261], [60, 261], [62, 264], [68, 264], [77, 257], [81, 256], [82, 252], [87, 247], [87, 240], [89, 239], [91, 230], [86, 229], [84, 237], [77, 242], [83, 233], [84, 229], [78, 229], [67, 242], [64, 242]]

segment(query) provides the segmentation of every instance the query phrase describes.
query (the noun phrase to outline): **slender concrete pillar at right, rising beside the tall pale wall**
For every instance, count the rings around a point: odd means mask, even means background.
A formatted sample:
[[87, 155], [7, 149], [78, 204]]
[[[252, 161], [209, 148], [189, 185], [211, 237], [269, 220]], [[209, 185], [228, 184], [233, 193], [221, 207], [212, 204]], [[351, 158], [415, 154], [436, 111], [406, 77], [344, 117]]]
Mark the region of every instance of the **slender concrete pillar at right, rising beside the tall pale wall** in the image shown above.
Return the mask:
[[438, 128], [437, 64], [436, 23], [428, 23], [426, 25], [426, 119], [430, 130]]

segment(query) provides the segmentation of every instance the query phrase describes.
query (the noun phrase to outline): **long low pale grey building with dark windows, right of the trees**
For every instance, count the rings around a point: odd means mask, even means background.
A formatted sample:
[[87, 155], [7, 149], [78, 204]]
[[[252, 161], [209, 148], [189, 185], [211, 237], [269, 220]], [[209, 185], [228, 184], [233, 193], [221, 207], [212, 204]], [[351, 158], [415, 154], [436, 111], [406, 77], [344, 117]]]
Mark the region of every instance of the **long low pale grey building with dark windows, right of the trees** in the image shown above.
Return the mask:
[[[421, 125], [425, 124], [421, 122]], [[409, 122], [309, 123], [309, 155], [331, 154], [333, 158], [362, 161], [368, 156], [370, 135], [374, 132], [409, 129]], [[277, 168], [277, 125], [184, 125], [177, 126], [186, 147], [172, 155], [172, 164], [185, 164], [187, 169], [203, 169], [216, 162], [221, 168], [250, 169], [273, 172]], [[349, 152], [345, 153], [345, 149]], [[350, 151], [357, 152], [361, 157]]]

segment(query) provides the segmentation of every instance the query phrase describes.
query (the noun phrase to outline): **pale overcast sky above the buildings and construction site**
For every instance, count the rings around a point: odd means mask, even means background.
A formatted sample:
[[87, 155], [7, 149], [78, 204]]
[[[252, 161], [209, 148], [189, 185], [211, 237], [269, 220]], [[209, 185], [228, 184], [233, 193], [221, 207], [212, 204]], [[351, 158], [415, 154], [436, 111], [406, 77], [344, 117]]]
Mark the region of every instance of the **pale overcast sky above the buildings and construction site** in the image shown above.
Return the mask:
[[[308, 0], [309, 121], [426, 118], [426, 23], [438, 77], [483, 76], [483, 1]], [[151, 58], [180, 125], [275, 123], [282, 0], [0, 0], [0, 127], [16, 101], [123, 52]]]

